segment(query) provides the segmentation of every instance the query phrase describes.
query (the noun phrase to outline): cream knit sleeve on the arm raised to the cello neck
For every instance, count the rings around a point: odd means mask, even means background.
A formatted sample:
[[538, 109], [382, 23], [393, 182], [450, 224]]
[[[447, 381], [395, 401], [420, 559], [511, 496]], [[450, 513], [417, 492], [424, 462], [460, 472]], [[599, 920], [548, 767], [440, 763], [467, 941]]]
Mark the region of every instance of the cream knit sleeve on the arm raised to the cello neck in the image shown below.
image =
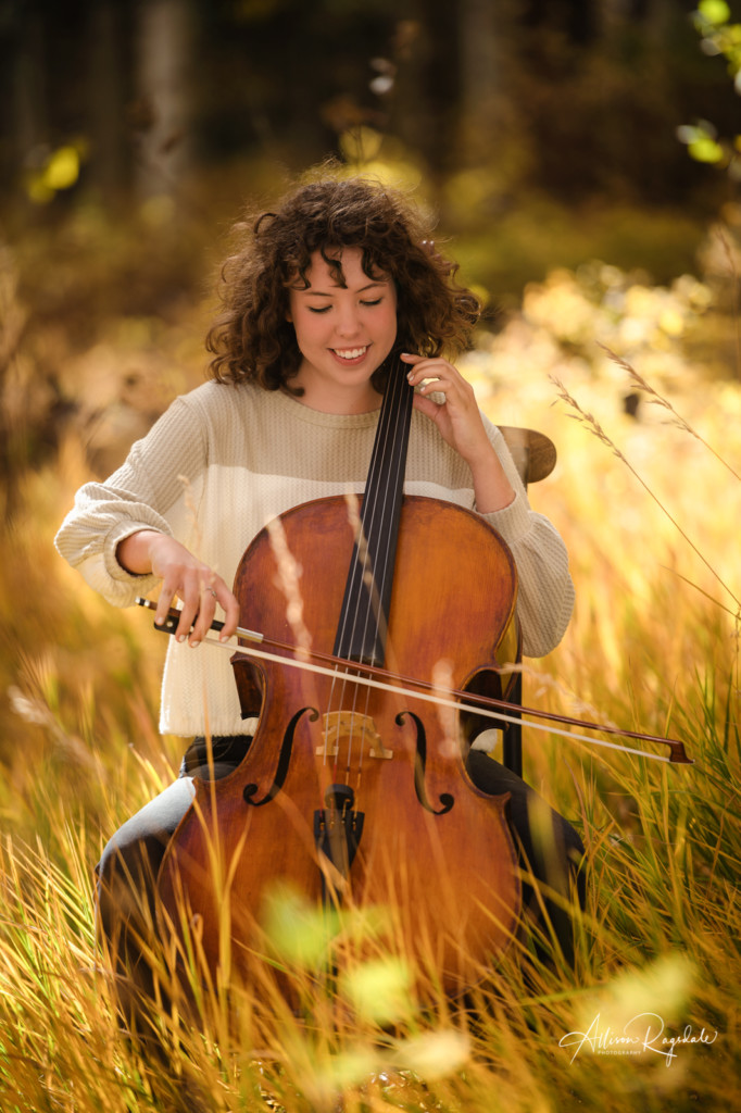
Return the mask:
[[482, 514], [482, 518], [507, 543], [517, 568], [517, 613], [522, 626], [523, 653], [526, 657], [544, 657], [563, 638], [574, 607], [569, 554], [549, 519], [531, 510], [502, 433], [491, 422], [484, 420], [484, 424], [515, 496], [508, 506]]

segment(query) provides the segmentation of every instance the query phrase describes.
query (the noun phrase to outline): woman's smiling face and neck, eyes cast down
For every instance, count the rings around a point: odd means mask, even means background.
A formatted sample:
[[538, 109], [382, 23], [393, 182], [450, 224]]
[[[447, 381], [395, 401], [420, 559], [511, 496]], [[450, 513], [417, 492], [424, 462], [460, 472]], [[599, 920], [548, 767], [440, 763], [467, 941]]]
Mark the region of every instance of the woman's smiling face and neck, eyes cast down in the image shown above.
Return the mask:
[[325, 413], [363, 413], [378, 406], [370, 376], [396, 339], [396, 292], [385, 275], [372, 277], [359, 247], [337, 253], [345, 285], [339, 285], [319, 252], [302, 283], [288, 289], [289, 319], [302, 353], [292, 384], [302, 401]]

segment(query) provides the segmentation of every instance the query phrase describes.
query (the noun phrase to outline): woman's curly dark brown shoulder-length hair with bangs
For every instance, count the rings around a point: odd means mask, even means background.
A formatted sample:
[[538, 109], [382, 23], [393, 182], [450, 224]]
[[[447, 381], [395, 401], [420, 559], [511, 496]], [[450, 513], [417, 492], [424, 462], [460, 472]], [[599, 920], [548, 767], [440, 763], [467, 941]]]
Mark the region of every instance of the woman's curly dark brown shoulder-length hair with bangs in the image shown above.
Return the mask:
[[[467, 344], [480, 303], [455, 282], [417, 209], [397, 190], [366, 178], [325, 179], [294, 190], [271, 211], [237, 225], [236, 253], [221, 270], [221, 315], [208, 333], [210, 374], [221, 383], [287, 387], [302, 355], [287, 318], [288, 286], [306, 279], [320, 252], [344, 285], [337, 252], [357, 247], [368, 277], [392, 278], [397, 297], [396, 349], [435, 356]], [[383, 390], [385, 368], [374, 386]]]

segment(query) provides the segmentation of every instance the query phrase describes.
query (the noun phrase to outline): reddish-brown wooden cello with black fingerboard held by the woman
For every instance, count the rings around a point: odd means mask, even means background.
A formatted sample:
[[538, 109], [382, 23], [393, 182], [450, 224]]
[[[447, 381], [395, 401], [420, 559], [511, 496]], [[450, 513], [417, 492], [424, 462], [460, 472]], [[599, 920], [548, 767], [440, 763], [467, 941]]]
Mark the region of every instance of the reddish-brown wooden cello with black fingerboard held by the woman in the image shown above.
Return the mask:
[[[422, 691], [506, 696], [516, 569], [475, 513], [404, 495], [412, 398], [392, 359], [362, 506], [296, 506], [239, 563], [243, 620], [279, 648], [269, 662], [235, 653], [254, 739], [227, 777], [196, 781], [158, 878], [167, 928], [185, 946], [195, 933], [214, 984], [254, 975], [276, 881], [318, 905], [393, 909], [404, 955], [451, 995], [516, 933], [507, 796], [481, 791], [465, 769], [482, 720]], [[332, 668], [294, 667], [317, 653]], [[368, 687], [365, 671], [381, 668], [417, 678], [419, 695], [401, 681]]]

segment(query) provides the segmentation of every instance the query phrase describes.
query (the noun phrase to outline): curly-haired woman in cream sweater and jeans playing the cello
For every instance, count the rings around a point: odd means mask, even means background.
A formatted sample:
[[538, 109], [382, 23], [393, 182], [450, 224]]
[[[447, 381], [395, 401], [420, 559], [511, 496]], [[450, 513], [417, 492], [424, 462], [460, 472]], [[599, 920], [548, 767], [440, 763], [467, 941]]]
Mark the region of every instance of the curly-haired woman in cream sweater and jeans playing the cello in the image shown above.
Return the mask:
[[[235, 632], [235, 570], [270, 518], [364, 490], [392, 352], [415, 387], [405, 491], [474, 510], [507, 543], [524, 653], [547, 653], [569, 622], [564, 545], [530, 509], [502, 435], [446, 358], [465, 345], [478, 304], [425, 236], [401, 195], [363, 179], [303, 186], [241, 226], [208, 337], [211, 382], [177, 398], [106, 483], [83, 486], [58, 534], [60, 553], [110, 602], [129, 605], [158, 587], [160, 624], [176, 598], [181, 604], [160, 727], [195, 741], [180, 778], [124, 825], [99, 866], [101, 926], [145, 993], [139, 894], [151, 897], [192, 778], [225, 776], [250, 740], [228, 654], [198, 646], [217, 607], [221, 639]], [[482, 752], [472, 751], [468, 769], [485, 791], [512, 792], [511, 821], [533, 871], [566, 893], [567, 863], [583, 850], [576, 833], [546, 809], [552, 845], [539, 849], [527, 818], [535, 794]], [[557, 877], [544, 878], [546, 858], [560, 864]]]

